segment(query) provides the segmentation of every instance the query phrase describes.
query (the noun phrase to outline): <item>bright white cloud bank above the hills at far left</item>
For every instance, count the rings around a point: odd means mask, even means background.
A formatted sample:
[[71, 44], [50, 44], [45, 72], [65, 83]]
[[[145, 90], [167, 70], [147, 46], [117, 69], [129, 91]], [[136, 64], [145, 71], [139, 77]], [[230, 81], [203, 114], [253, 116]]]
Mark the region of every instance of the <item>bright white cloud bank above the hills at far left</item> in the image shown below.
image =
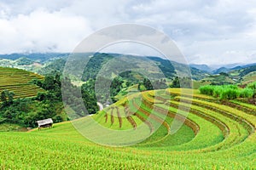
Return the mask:
[[18, 14], [10, 20], [0, 19], [0, 51], [70, 52], [92, 30], [84, 17], [49, 13], [44, 9], [29, 15]]

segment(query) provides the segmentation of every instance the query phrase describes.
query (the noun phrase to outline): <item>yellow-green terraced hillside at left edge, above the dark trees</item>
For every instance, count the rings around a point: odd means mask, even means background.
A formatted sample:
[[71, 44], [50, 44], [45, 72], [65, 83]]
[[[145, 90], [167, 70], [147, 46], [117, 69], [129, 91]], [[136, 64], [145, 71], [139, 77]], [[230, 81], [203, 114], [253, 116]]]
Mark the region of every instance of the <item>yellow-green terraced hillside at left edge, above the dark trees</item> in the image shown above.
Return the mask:
[[36, 96], [39, 91], [43, 90], [31, 82], [33, 79], [43, 78], [29, 71], [0, 67], [0, 93], [6, 89], [13, 91], [15, 98]]

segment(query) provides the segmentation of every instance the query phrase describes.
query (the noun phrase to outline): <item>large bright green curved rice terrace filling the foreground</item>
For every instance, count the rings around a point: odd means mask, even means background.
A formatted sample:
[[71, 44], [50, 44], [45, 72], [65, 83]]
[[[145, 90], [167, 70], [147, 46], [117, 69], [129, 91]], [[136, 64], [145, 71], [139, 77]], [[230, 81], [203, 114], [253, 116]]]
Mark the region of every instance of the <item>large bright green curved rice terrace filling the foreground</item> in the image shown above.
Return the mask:
[[[90, 117], [74, 122], [86, 122]], [[53, 128], [42, 131], [34, 129], [27, 133], [0, 133], [1, 168], [256, 167], [256, 108], [240, 100], [221, 102], [218, 98], [200, 94], [199, 90], [168, 88], [132, 94], [92, 117], [102, 127], [120, 131], [136, 130], [145, 124], [145, 132], [152, 135], [135, 145], [108, 147], [85, 139], [75, 130], [72, 122], [56, 123]], [[184, 122], [177, 133], [172, 132], [174, 119]], [[155, 122], [160, 122], [160, 127], [156, 127]]]

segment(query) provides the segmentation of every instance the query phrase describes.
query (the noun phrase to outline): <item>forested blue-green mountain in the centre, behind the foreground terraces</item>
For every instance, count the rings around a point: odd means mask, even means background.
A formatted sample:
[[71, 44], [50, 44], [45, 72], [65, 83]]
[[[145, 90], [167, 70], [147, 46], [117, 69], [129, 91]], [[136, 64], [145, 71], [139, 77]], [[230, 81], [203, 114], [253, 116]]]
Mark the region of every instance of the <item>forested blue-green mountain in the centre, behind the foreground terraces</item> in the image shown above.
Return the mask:
[[[93, 57], [90, 58], [88, 64], [86, 65], [86, 68], [84, 70], [84, 74], [82, 76], [82, 79], [84, 81], [95, 78], [98, 71], [102, 69], [102, 65], [108, 63], [109, 60], [116, 58], [127, 58], [127, 60], [122, 60], [118, 63], [118, 61], [115, 61], [113, 67], [113, 72], [115, 70], [119, 69], [119, 65], [124, 67], [122, 69], [125, 69], [125, 65], [133, 65], [133, 67], [137, 67], [138, 72], [143, 72], [146, 68], [146, 70], [149, 72], [151, 77], [154, 77], [157, 79], [157, 77], [160, 77], [160, 71], [165, 75], [167, 78], [173, 78], [177, 76], [177, 71], [180, 73], [179, 75], [188, 75], [188, 71], [186, 71], [187, 66], [174, 62], [169, 61], [166, 59], [162, 59], [159, 57], [142, 57], [142, 56], [134, 56], [134, 55], [122, 55], [122, 54], [94, 54]], [[129, 59], [128, 59], [129, 58]], [[158, 67], [160, 71], [154, 71], [154, 66]], [[129, 67], [128, 67], [129, 68]], [[140, 68], [143, 68], [140, 70]], [[198, 69], [195, 69], [193, 67], [190, 67], [190, 71], [192, 73], [192, 78], [195, 80], [199, 80], [202, 77], [207, 77], [209, 74], [206, 71], [200, 71]], [[147, 73], [145, 73], [147, 74]]]

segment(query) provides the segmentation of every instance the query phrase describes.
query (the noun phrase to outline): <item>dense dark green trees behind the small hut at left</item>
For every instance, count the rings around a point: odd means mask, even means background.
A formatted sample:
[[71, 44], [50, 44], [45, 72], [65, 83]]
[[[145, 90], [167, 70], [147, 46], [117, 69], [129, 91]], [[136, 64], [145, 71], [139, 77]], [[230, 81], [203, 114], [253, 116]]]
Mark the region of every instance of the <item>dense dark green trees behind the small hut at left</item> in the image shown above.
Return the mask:
[[[8, 122], [19, 124], [23, 127], [36, 127], [36, 121], [52, 118], [54, 122], [67, 121], [70, 118], [64, 110], [62, 102], [61, 84], [65, 82], [67, 86], [66, 96], [69, 98], [65, 101], [65, 105], [72, 105], [76, 113], [92, 114], [98, 111], [96, 98], [86, 91], [73, 85], [73, 83], [65, 77], [65, 81], [60, 74], [48, 75], [44, 80], [33, 80], [32, 83], [44, 89], [44, 92], [38, 92], [38, 95], [32, 98], [15, 99], [15, 93], [8, 89], [1, 93], [0, 104], [0, 123]], [[75, 92], [75, 93], [73, 93]], [[69, 93], [69, 94], [68, 94]], [[81, 105], [75, 105], [76, 100], [82, 100], [87, 109], [86, 113]]]

